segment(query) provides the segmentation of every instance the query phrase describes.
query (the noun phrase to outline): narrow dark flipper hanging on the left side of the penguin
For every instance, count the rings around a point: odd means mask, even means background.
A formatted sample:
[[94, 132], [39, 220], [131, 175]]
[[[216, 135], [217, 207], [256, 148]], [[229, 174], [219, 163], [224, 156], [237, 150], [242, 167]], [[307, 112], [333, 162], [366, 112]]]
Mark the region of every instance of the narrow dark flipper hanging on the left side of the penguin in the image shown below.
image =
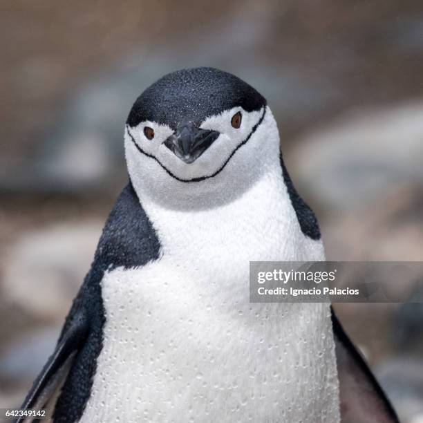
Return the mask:
[[[75, 301], [73, 308], [79, 304]], [[82, 310], [75, 310], [62, 331], [55, 352], [50, 356], [40, 375], [35, 380], [21, 409], [46, 408], [46, 404], [64, 383], [75, 355], [84, 346], [88, 335], [88, 319]], [[36, 420], [35, 417], [33, 420]], [[16, 423], [32, 421], [28, 417], [19, 417]]]

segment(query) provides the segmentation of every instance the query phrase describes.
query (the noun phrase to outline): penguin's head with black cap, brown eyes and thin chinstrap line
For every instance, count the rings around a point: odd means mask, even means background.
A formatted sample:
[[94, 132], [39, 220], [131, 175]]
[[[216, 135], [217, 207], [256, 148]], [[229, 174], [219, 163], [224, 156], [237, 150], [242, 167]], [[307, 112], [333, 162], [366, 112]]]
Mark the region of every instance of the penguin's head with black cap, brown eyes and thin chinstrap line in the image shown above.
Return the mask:
[[[177, 199], [225, 186], [241, 194], [266, 161], [279, 161], [279, 134], [252, 86], [218, 69], [192, 68], [165, 75], [138, 97], [125, 151], [138, 193]], [[230, 180], [237, 187], [229, 189]]]

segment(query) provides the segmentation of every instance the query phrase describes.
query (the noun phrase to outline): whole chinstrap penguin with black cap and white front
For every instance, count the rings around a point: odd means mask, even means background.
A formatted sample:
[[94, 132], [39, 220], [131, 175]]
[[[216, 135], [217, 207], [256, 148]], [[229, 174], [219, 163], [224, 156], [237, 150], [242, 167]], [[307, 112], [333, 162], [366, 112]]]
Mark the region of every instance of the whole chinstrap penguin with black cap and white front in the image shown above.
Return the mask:
[[328, 303], [250, 303], [250, 261], [325, 259], [265, 98], [166, 75], [124, 128], [115, 203], [23, 408], [54, 422], [397, 422]]

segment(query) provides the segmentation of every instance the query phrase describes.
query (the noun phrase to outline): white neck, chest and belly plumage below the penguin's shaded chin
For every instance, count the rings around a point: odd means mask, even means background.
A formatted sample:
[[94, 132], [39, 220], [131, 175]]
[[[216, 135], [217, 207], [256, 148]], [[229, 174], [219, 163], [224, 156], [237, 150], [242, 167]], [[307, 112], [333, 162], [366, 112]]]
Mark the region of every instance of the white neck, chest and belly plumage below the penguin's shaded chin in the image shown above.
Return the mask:
[[249, 303], [249, 261], [323, 259], [279, 173], [212, 210], [142, 205], [162, 256], [104, 276], [81, 422], [339, 422], [328, 304]]

